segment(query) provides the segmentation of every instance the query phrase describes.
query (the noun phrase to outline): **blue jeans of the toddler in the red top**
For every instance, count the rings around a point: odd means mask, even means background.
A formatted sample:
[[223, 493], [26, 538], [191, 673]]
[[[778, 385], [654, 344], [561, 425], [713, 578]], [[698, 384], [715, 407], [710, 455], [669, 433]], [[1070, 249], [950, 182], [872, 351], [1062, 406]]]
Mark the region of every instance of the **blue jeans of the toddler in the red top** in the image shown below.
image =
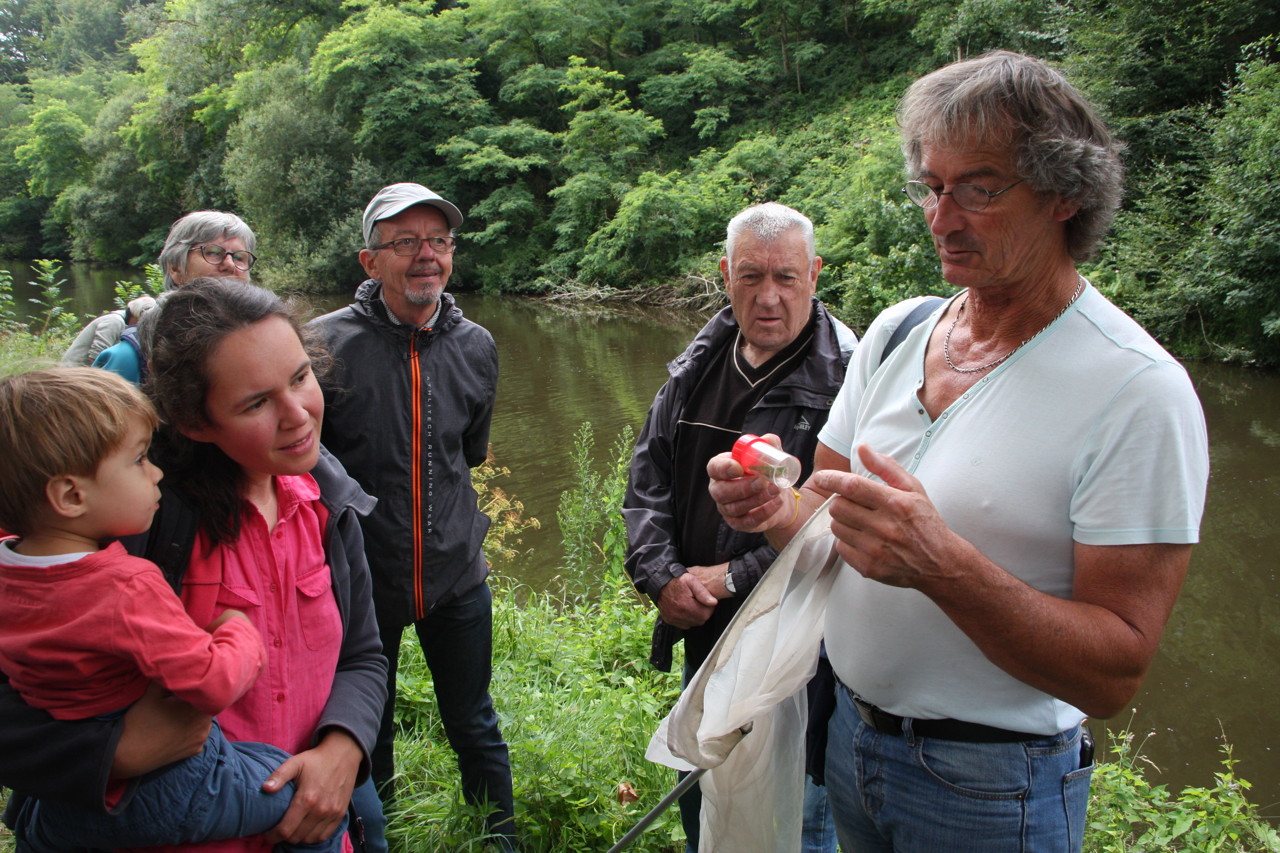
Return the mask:
[[[214, 720], [198, 756], [138, 777], [119, 813], [88, 811], [52, 800], [28, 800], [15, 835], [23, 853], [83, 848], [155, 847], [247, 838], [274, 827], [293, 802], [294, 785], [268, 794], [262, 783], [289, 757], [264, 743], [232, 743]], [[276, 850], [340, 853], [347, 821], [317, 844], [280, 844]]]

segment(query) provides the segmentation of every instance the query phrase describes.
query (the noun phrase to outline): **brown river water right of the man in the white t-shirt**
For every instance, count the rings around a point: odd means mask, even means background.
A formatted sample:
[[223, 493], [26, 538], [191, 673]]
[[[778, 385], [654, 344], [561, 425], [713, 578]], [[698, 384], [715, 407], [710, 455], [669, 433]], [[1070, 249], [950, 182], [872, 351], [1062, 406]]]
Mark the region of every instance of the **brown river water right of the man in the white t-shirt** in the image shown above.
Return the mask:
[[1174, 789], [1212, 781], [1221, 756], [1210, 744], [1225, 733], [1249, 799], [1280, 818], [1280, 377], [1189, 370], [1208, 421], [1208, 502], [1132, 727], [1155, 733], [1146, 752]]

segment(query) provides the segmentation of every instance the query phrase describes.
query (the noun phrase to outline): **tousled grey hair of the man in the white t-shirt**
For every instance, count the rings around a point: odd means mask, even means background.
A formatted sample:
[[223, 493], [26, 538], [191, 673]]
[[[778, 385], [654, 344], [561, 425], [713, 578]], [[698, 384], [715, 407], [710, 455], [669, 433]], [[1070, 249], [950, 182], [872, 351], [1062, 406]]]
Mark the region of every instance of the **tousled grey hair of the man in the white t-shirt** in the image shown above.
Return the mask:
[[945, 65], [911, 83], [897, 106], [911, 179], [923, 146], [1007, 146], [1018, 177], [1079, 205], [1068, 250], [1088, 260], [1111, 229], [1124, 193], [1124, 143], [1066, 77], [1038, 59], [997, 50]]

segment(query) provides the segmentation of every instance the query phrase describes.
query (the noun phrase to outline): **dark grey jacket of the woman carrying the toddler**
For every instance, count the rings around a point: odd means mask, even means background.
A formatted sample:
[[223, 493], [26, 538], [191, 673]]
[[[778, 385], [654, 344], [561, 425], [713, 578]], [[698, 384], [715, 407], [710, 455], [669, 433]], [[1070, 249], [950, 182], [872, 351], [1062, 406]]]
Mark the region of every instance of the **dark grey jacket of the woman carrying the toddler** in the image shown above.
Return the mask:
[[[364, 538], [357, 521], [357, 516], [372, 508], [374, 501], [324, 450], [311, 475], [329, 510], [325, 558], [333, 574], [333, 593], [343, 628], [338, 670], [317, 731], [338, 727], [356, 739], [365, 753], [357, 780], [362, 781], [369, 772], [369, 756], [387, 699], [387, 658], [374, 621]], [[189, 561], [198, 525], [195, 510], [182, 493], [166, 487], [161, 487], [161, 492], [164, 497], [151, 532], [131, 537], [125, 547], [134, 556], [159, 565], [177, 585]], [[26, 704], [0, 675], [0, 785], [82, 808], [102, 808], [123, 729], [123, 717], [54, 720]], [[19, 799], [15, 793], [6, 815], [15, 813]]]

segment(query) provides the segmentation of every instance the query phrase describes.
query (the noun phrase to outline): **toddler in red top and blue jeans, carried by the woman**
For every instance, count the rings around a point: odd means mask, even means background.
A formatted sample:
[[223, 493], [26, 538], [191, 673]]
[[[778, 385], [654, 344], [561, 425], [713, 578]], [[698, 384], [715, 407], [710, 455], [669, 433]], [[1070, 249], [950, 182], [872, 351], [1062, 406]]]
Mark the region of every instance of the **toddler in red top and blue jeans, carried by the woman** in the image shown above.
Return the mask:
[[[0, 671], [59, 720], [123, 713], [157, 681], [215, 715], [257, 679], [266, 651], [234, 610], [202, 629], [151, 562], [119, 537], [143, 533], [161, 471], [147, 459], [156, 414], [120, 377], [93, 368], [0, 379]], [[109, 543], [109, 544], [104, 544]], [[111, 783], [108, 809], [40, 802], [33, 853], [243, 838], [283, 817], [292, 785], [269, 794], [288, 753], [229, 743], [218, 722], [200, 754]], [[320, 844], [342, 849], [344, 827]]]

